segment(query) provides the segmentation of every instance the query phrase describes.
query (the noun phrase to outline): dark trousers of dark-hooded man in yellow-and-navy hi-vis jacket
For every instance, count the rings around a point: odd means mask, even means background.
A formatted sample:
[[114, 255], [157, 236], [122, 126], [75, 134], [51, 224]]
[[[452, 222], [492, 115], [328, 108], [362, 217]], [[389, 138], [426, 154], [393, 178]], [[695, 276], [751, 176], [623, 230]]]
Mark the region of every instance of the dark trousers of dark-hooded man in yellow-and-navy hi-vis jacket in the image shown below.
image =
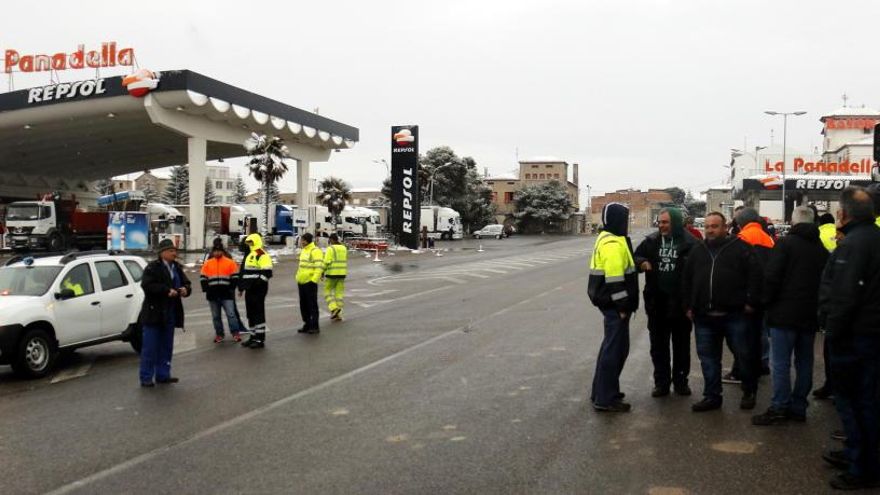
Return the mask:
[[629, 320], [621, 318], [616, 309], [603, 309], [605, 338], [599, 347], [593, 391], [590, 400], [597, 406], [609, 406], [620, 393], [620, 373], [629, 356]]

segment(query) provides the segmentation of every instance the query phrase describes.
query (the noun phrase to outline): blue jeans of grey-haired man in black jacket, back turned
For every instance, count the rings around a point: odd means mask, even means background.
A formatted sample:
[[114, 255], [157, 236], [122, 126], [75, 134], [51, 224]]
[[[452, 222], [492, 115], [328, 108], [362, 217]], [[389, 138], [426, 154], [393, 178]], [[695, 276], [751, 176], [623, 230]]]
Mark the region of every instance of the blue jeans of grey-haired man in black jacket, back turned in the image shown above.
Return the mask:
[[[777, 411], [807, 414], [807, 395], [813, 388], [813, 344], [816, 332], [770, 328], [773, 375], [771, 405]], [[794, 390], [791, 388], [791, 355], [794, 353]]]

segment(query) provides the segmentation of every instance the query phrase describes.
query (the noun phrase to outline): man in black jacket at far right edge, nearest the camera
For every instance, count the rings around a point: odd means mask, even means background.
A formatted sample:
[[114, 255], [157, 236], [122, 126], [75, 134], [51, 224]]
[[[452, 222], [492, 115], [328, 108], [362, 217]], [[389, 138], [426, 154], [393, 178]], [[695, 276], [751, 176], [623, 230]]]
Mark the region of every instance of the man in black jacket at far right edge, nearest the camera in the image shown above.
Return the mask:
[[863, 188], [844, 189], [840, 208], [844, 238], [822, 273], [819, 323], [829, 342], [846, 448], [823, 458], [847, 469], [831, 480], [832, 487], [880, 487], [880, 228]]

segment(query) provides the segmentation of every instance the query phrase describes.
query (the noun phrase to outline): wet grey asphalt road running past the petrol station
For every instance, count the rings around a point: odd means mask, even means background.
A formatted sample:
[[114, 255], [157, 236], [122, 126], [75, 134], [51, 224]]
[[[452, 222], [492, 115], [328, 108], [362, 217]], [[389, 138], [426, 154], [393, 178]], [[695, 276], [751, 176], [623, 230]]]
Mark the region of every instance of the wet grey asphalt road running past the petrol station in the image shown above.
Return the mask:
[[[317, 337], [295, 331], [284, 259], [266, 349], [211, 343], [202, 295], [187, 300], [174, 386], [138, 387], [122, 343], [66, 356], [44, 380], [0, 367], [0, 492], [826, 493], [830, 402], [806, 424], [758, 428], [730, 385], [711, 413], [690, 412], [698, 395], [653, 399], [642, 312], [621, 383], [633, 412], [589, 407], [592, 241], [353, 257], [346, 321], [325, 316]], [[698, 392], [696, 358], [691, 377]]]

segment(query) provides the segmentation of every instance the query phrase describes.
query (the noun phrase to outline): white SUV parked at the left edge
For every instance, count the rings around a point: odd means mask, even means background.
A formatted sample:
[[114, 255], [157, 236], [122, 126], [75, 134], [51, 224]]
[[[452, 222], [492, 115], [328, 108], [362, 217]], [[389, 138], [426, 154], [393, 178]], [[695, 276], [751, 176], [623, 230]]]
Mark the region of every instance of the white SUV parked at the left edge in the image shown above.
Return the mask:
[[140, 351], [145, 266], [114, 251], [7, 261], [0, 267], [0, 364], [39, 378], [61, 350], [124, 340]]

